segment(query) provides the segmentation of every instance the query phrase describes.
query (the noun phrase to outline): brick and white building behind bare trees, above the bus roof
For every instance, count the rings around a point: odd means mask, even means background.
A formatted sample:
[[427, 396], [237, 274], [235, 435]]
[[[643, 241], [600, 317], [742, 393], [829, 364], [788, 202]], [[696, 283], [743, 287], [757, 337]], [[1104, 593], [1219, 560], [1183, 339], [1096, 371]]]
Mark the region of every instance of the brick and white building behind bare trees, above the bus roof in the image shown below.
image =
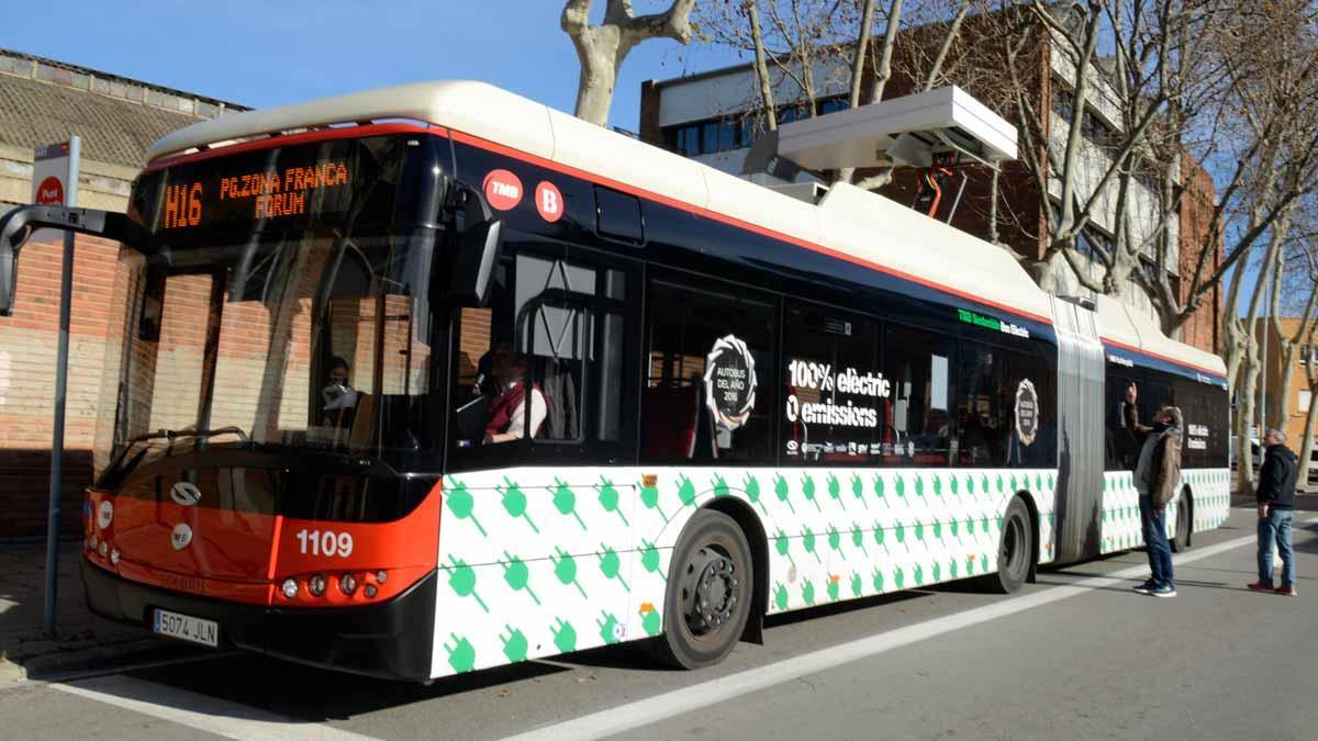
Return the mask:
[[[961, 70], [967, 71], [967, 76], [977, 79], [957, 79], [957, 67], [950, 74], [953, 82], [969, 90], [983, 103], [994, 108], [994, 92], [977, 90], [977, 84], [985, 75], [983, 69], [969, 67], [971, 63], [992, 65], [991, 54], [973, 55], [977, 44], [994, 44], [990, 40], [987, 21], [983, 18], [967, 18], [961, 32], [962, 42], [953, 57], [961, 54]], [[1065, 142], [1073, 120], [1073, 100], [1075, 79], [1074, 63], [1061, 51], [1057, 42], [1050, 41], [1046, 34], [1036, 45], [1036, 49], [1023, 57], [1031, 66], [1021, 71], [1021, 76], [1033, 86], [1032, 99], [1040, 111], [1040, 117], [1048, 128], [1048, 146], [1058, 152], [1065, 148]], [[909, 55], [909, 50], [924, 44], [937, 49], [941, 44], [941, 33], [936, 28], [917, 28], [903, 32], [899, 37], [894, 76], [884, 88], [884, 98], [908, 95], [920, 90], [903, 70], [912, 69], [902, 57]], [[907, 51], [903, 51], [905, 49]], [[977, 62], [977, 59], [987, 59]], [[816, 62], [826, 65], [826, 62]], [[836, 61], [836, 65], [849, 66], [846, 59]], [[836, 66], [833, 69], [837, 69]], [[974, 75], [969, 73], [974, 71]], [[873, 70], [863, 71], [863, 88], [870, 87]], [[811, 107], [805, 94], [797, 84], [801, 79], [799, 66], [792, 74], [771, 70], [774, 78], [774, 95], [778, 108], [779, 121], [786, 123], [800, 116], [811, 115]], [[815, 86], [815, 111], [820, 115], [847, 107], [849, 79], [847, 74], [820, 74], [820, 82]], [[979, 82], [977, 82], [979, 80]], [[1078, 190], [1094, 193], [1107, 169], [1110, 154], [1103, 146], [1103, 141], [1112, 136], [1112, 132], [1122, 127], [1122, 116], [1116, 109], [1115, 95], [1107, 87], [1104, 79], [1098, 74], [1091, 74], [1091, 95], [1087, 109], [1082, 116], [1083, 131], [1081, 141], [1079, 160], [1077, 167]], [[987, 83], [985, 83], [987, 84]], [[991, 87], [991, 86], [988, 86]], [[758, 111], [762, 108], [759, 100], [759, 82], [751, 65], [741, 65], [713, 70], [689, 76], [650, 80], [642, 84], [641, 96], [641, 137], [651, 144], [663, 146], [692, 157], [705, 165], [724, 171], [741, 174], [742, 165], [750, 146], [759, 134], [763, 124]], [[1002, 108], [1002, 107], [999, 107]], [[999, 109], [999, 115], [1012, 120], [1010, 111]], [[1024, 142], [1021, 141], [1021, 145]], [[1172, 240], [1172, 260], [1168, 265], [1169, 280], [1174, 290], [1178, 291], [1184, 302], [1189, 294], [1189, 276], [1193, 273], [1202, 247], [1206, 241], [1211, 208], [1217, 200], [1213, 181], [1188, 156], [1182, 156], [1177, 163], [1181, 185], [1186, 189], [1180, 210], [1169, 219], [1166, 225], [1168, 236]], [[862, 173], [863, 174], [863, 173]], [[978, 237], [988, 239], [992, 233], [988, 223], [990, 210], [990, 174], [978, 166], [966, 167], [967, 179], [960, 196], [960, 207], [952, 216], [950, 223]], [[900, 202], [912, 203], [917, 190], [917, 173], [912, 170], [898, 170], [888, 186], [880, 193]], [[945, 185], [945, 198], [936, 218], [946, 219], [952, 212], [952, 195], [957, 193], [960, 178], [949, 179]], [[1152, 187], [1155, 183], [1136, 179], [1131, 185], [1133, 196], [1128, 208], [1127, 227], [1136, 240], [1152, 237], [1156, 231], [1156, 196]], [[1061, 181], [1052, 177], [1048, 182], [1048, 196], [1056, 203], [1061, 195]], [[1115, 232], [1118, 191], [1115, 178], [1107, 190], [1098, 199], [1098, 207], [1091, 218], [1091, 225], [1086, 228], [1078, 240], [1082, 264], [1086, 264], [1091, 278], [1102, 278], [1102, 266], [1089, 256], [1095, 254], [1091, 243], [1103, 243], [1110, 247]], [[1017, 253], [1028, 258], [1040, 258], [1048, 247], [1048, 222], [1039, 187], [1033, 175], [1020, 162], [1007, 162], [1002, 166], [999, 177], [998, 196], [998, 239], [1003, 244], [1011, 245]], [[1140, 257], [1140, 269], [1148, 273], [1155, 270], [1155, 253], [1152, 239], [1148, 251]], [[1220, 249], [1215, 249], [1210, 256], [1210, 270], [1219, 265]], [[1181, 277], [1186, 276], [1182, 281]], [[1066, 273], [1070, 285], [1065, 286], [1065, 293], [1073, 295], [1091, 295], [1072, 273]], [[1127, 281], [1119, 286], [1118, 298], [1135, 307], [1144, 315], [1156, 318], [1157, 314], [1148, 294], [1133, 281]], [[1195, 345], [1209, 352], [1219, 352], [1220, 344], [1220, 311], [1222, 295], [1218, 289], [1203, 303], [1203, 306], [1182, 326], [1181, 341]]]

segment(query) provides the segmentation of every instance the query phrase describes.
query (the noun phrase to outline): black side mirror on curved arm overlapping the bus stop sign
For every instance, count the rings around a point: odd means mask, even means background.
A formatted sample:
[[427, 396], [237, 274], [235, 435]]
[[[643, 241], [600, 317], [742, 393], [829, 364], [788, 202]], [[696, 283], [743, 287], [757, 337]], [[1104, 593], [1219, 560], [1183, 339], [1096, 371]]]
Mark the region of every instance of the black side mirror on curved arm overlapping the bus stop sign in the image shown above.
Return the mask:
[[38, 228], [63, 229], [120, 241], [144, 251], [150, 233], [124, 214], [69, 206], [20, 206], [0, 216], [0, 316], [13, 311], [18, 253]]

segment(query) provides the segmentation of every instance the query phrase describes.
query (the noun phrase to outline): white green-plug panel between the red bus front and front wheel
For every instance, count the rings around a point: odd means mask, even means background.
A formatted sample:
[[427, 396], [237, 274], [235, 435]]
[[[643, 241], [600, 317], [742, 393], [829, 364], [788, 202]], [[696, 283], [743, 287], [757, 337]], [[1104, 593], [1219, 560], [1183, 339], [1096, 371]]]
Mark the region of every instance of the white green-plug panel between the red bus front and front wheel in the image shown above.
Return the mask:
[[634, 471], [464, 472], [444, 490], [434, 676], [617, 643], [630, 612], [663, 605], [634, 581]]

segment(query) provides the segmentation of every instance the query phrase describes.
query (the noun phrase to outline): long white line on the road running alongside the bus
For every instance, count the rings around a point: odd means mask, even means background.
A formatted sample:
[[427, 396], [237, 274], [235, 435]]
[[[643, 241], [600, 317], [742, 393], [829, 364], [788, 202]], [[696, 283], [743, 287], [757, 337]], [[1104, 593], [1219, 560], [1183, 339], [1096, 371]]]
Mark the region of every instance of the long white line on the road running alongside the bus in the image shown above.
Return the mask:
[[[1318, 522], [1318, 517], [1306, 519], [1304, 525]], [[1195, 548], [1188, 555], [1178, 555], [1176, 566], [1185, 566], [1206, 558], [1213, 558], [1222, 552], [1257, 543], [1255, 535], [1224, 541], [1205, 548]], [[724, 703], [742, 695], [749, 695], [775, 684], [791, 682], [793, 679], [818, 674], [846, 663], [865, 659], [884, 651], [900, 649], [919, 641], [936, 638], [946, 633], [962, 630], [965, 628], [1008, 617], [1020, 612], [1035, 609], [1060, 600], [1086, 595], [1094, 589], [1112, 587], [1133, 578], [1148, 574], [1148, 566], [1133, 566], [1114, 572], [1110, 576], [1094, 576], [1082, 579], [1065, 587], [1050, 587], [1048, 589], [1023, 595], [1010, 600], [1003, 600], [994, 605], [974, 608], [956, 614], [949, 614], [928, 622], [908, 625], [887, 633], [878, 633], [866, 638], [858, 638], [829, 649], [821, 649], [809, 654], [803, 654], [776, 663], [757, 668], [749, 668], [737, 674], [701, 682], [681, 690], [663, 692], [645, 700], [637, 700], [606, 711], [594, 712], [577, 719], [544, 725], [525, 733], [507, 737], [505, 741], [564, 741], [569, 738], [600, 738], [613, 736], [668, 720], [671, 717], [705, 708], [717, 703]]]

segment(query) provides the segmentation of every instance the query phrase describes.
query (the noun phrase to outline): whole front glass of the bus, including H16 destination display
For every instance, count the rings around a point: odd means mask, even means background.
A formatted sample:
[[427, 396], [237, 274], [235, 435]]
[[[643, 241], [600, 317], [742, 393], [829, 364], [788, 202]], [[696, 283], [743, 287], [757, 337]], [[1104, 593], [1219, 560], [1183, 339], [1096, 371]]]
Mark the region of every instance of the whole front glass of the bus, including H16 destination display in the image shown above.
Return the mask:
[[[108, 481], [203, 448], [316, 450], [407, 467], [431, 448], [428, 286], [438, 237], [397, 223], [407, 167], [377, 149], [366, 150], [372, 183], [358, 187], [370, 196], [343, 204], [347, 216], [192, 229], [145, 258], [129, 305], [138, 320], [124, 344]], [[327, 150], [298, 166], [323, 166]], [[361, 154], [348, 154], [345, 167], [366, 169]], [[270, 154], [265, 165], [287, 167]], [[167, 175], [138, 183], [138, 202], [154, 194], [145, 218], [170, 237], [161, 229], [170, 218]], [[183, 189], [221, 182], [207, 178], [175, 174]], [[307, 196], [326, 207], [327, 199]]]

